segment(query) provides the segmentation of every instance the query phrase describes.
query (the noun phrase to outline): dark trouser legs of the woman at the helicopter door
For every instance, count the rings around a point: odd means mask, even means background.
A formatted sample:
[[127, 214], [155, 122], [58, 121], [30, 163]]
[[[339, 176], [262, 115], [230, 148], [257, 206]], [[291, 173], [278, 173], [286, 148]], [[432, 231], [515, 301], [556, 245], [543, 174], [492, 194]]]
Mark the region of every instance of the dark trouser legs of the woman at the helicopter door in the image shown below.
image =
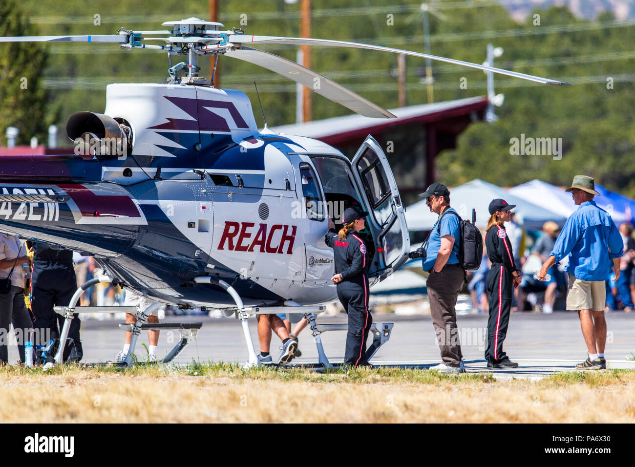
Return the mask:
[[355, 366], [366, 364], [366, 339], [373, 324], [373, 316], [368, 311], [368, 282], [340, 282], [337, 285], [337, 297], [349, 315], [344, 363]]

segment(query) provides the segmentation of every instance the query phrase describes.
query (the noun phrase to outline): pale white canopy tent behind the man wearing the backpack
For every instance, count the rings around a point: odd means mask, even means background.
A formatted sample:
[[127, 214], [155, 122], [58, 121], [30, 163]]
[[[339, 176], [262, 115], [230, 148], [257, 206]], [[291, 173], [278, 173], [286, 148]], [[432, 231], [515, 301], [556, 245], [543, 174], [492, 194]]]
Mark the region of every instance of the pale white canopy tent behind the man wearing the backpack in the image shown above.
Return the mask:
[[[511, 205], [516, 205], [513, 212], [529, 229], [540, 229], [547, 220], [553, 220], [560, 226], [565, 223], [566, 215], [554, 212], [523, 198], [519, 198], [499, 186], [483, 180], [472, 180], [466, 184], [450, 189], [450, 205], [457, 210], [464, 220], [472, 220], [472, 208], [476, 209], [476, 226], [485, 228], [490, 217], [488, 206], [491, 200], [503, 198]], [[438, 215], [430, 212], [425, 200], [406, 208], [406, 222], [409, 231], [429, 230], [434, 226]]]

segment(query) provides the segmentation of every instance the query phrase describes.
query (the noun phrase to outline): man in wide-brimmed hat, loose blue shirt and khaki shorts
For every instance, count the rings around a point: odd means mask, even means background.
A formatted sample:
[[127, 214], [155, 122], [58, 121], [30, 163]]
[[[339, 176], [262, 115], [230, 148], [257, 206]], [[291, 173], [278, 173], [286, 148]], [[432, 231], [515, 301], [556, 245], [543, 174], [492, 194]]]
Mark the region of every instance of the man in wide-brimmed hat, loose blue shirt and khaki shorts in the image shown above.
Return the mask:
[[565, 191], [572, 192], [573, 201], [580, 207], [566, 220], [549, 259], [538, 272], [538, 279], [544, 281], [547, 269], [568, 256], [566, 309], [578, 311], [582, 334], [589, 350], [587, 360], [575, 367], [605, 369], [605, 281], [610, 273], [611, 260], [615, 267], [615, 279], [619, 277], [624, 245], [611, 216], [593, 201], [599, 193], [595, 191], [591, 177], [576, 175], [572, 186]]

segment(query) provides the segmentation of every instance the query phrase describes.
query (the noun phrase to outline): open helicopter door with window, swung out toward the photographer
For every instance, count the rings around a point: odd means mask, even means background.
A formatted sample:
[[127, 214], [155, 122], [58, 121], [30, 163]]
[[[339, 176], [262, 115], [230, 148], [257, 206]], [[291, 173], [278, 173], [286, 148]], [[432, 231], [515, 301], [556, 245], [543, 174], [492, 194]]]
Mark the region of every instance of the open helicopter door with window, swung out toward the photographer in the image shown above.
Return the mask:
[[384, 151], [370, 135], [352, 159], [352, 168], [368, 206], [366, 226], [375, 239], [368, 274], [384, 280], [407, 261], [410, 252], [401, 196]]

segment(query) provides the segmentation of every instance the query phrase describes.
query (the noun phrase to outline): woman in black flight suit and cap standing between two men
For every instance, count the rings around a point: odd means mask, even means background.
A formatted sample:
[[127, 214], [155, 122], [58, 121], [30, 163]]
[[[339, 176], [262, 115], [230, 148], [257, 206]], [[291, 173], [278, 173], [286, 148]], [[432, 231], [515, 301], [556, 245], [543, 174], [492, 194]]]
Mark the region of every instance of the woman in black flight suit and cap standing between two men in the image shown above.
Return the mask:
[[485, 358], [488, 368], [518, 367], [518, 363], [509, 360], [503, 351], [513, 288], [518, 287], [522, 279], [518, 265], [514, 264], [514, 252], [504, 226], [504, 222], [508, 222], [511, 217], [511, 209], [515, 207], [516, 205], [510, 205], [500, 198], [490, 203], [490, 219], [485, 234], [485, 248], [491, 261], [490, 272], [487, 274], [490, 317], [487, 320]]

